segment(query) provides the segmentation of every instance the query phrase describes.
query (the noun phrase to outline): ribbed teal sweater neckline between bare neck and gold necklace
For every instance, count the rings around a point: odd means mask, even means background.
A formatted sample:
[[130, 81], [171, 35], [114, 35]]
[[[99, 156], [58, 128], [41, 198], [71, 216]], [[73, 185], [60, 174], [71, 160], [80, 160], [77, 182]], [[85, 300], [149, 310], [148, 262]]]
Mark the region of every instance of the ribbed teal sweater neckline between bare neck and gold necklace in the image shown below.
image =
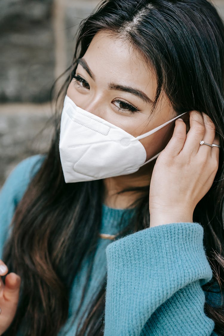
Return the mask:
[[[135, 209], [114, 209], [102, 204], [102, 220], [100, 233], [116, 235], [122, 228], [128, 225]], [[123, 219], [122, 219], [123, 216]], [[122, 219], [122, 222], [121, 222]]]

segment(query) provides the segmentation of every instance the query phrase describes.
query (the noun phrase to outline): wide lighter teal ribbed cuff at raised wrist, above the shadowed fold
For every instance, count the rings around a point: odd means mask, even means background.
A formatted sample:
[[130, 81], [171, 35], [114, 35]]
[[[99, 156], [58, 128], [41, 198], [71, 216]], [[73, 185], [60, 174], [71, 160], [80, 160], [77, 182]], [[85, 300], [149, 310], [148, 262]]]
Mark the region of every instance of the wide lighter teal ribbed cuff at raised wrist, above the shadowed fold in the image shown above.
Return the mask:
[[[104, 336], [140, 335], [152, 313], [174, 293], [193, 282], [201, 286], [211, 280], [203, 234], [199, 223], [171, 223], [107, 246]], [[211, 329], [214, 322], [203, 318], [203, 328], [207, 324]]]

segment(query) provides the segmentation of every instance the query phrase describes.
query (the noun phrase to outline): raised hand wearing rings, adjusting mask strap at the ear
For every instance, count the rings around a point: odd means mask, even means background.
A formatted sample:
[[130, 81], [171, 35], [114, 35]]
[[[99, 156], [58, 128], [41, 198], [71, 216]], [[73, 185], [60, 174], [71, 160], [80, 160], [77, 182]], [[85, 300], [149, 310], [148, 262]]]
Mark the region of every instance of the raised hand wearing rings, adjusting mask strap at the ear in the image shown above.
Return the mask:
[[150, 227], [192, 222], [197, 203], [211, 188], [219, 166], [219, 148], [200, 145], [204, 140], [219, 144], [215, 125], [205, 114], [189, 113], [190, 130], [175, 121], [173, 136], [153, 168], [149, 190]]

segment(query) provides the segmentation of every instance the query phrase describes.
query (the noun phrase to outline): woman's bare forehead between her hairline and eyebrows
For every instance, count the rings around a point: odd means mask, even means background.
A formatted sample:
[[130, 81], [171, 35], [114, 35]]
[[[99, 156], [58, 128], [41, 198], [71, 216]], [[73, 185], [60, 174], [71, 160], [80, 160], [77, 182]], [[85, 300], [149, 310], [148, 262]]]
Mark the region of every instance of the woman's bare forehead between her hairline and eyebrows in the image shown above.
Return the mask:
[[130, 42], [111, 36], [105, 31], [98, 32], [92, 39], [83, 58], [96, 79], [130, 83], [141, 88], [155, 88], [153, 69]]

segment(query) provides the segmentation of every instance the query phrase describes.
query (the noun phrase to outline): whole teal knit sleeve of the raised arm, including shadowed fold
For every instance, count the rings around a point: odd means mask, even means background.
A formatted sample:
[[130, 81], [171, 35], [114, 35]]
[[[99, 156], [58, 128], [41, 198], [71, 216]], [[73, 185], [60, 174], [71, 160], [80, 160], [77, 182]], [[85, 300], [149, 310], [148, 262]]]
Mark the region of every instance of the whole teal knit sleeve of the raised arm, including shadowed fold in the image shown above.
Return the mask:
[[104, 336], [216, 335], [204, 312], [203, 236], [199, 223], [170, 223], [107, 246]]

